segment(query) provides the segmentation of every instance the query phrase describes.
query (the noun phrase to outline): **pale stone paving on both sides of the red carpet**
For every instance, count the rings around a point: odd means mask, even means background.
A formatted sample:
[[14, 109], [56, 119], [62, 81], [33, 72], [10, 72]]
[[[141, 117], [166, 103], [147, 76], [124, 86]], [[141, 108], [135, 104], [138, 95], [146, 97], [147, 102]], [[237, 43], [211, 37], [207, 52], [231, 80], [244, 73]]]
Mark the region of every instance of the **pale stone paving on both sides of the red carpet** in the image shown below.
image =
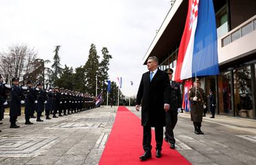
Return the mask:
[[[0, 164], [98, 164], [115, 111], [105, 106], [40, 123], [33, 119], [33, 125], [24, 125], [21, 116], [20, 129], [9, 129], [6, 118], [0, 125]], [[177, 150], [192, 164], [255, 164], [256, 121], [209, 117], [203, 118], [205, 135], [195, 135], [189, 114], [179, 114]]]

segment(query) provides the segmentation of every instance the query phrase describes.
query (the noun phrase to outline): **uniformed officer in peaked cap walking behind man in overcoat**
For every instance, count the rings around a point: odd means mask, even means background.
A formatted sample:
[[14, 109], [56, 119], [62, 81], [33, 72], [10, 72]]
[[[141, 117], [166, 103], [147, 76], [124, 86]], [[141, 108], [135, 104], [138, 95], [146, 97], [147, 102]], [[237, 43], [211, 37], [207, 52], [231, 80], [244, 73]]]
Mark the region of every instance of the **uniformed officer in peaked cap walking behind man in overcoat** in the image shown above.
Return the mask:
[[171, 85], [170, 108], [169, 111], [165, 113], [166, 131], [164, 132], [164, 140], [169, 143], [171, 149], [174, 149], [176, 140], [174, 138], [173, 129], [177, 124], [177, 109], [181, 108], [181, 88], [179, 83], [172, 80], [173, 69], [165, 69], [164, 72], [168, 73]]

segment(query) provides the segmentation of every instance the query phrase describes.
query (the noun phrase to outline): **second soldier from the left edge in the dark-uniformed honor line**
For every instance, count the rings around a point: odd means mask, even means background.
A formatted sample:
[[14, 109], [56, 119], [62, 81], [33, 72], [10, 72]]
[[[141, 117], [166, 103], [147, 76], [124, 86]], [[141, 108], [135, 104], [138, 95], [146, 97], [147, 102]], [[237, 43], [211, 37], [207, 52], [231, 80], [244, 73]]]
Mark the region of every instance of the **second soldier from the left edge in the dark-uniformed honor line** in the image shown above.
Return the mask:
[[25, 96], [23, 95], [22, 88], [19, 87], [19, 78], [12, 78], [12, 90], [11, 90], [11, 103], [10, 103], [10, 128], [19, 128], [16, 125], [17, 117], [21, 114], [21, 104], [24, 104]]

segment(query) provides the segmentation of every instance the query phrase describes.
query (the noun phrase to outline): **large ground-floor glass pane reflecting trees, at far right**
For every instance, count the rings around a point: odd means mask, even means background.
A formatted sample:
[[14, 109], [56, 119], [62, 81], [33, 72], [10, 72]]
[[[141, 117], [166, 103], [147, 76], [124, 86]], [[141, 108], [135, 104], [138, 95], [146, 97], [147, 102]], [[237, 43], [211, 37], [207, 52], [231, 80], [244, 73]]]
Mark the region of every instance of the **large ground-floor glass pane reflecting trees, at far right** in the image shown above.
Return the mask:
[[252, 78], [250, 66], [235, 69], [234, 72], [234, 101], [235, 115], [253, 119], [252, 110]]

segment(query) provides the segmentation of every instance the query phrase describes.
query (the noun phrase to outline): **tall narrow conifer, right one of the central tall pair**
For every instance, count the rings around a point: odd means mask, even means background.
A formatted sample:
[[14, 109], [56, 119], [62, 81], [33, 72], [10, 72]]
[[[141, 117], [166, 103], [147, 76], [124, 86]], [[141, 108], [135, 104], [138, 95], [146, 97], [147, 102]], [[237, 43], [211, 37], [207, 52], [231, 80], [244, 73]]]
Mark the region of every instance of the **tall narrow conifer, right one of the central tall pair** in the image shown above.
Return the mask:
[[101, 53], [103, 55], [103, 59], [100, 62], [99, 65], [99, 72], [98, 72], [98, 86], [100, 87], [100, 89], [103, 91], [103, 96], [104, 99], [106, 100], [106, 81], [108, 80], [109, 76], [108, 76], [108, 70], [109, 70], [109, 60], [112, 59], [112, 56], [110, 54], [108, 54], [108, 48], [102, 48], [101, 49]]

